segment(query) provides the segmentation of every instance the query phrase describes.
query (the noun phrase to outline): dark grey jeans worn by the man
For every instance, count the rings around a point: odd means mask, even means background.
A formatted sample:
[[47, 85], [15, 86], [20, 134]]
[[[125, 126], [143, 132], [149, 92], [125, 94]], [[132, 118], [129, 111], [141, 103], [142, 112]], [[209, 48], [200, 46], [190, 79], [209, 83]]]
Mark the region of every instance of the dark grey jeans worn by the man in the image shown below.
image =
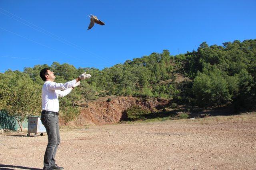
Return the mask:
[[41, 114], [41, 121], [48, 135], [48, 145], [44, 154], [44, 169], [55, 164], [55, 155], [60, 144], [59, 117], [54, 114]]

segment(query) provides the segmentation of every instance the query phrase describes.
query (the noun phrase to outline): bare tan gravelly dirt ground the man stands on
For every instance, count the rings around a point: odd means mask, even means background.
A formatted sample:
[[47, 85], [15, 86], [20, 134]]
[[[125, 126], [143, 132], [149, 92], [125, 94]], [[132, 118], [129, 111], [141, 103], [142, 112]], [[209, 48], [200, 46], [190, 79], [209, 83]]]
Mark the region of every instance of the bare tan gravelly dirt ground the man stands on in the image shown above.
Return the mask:
[[[256, 169], [256, 115], [90, 126], [60, 132], [65, 169]], [[0, 133], [0, 169], [42, 169], [47, 137]]]

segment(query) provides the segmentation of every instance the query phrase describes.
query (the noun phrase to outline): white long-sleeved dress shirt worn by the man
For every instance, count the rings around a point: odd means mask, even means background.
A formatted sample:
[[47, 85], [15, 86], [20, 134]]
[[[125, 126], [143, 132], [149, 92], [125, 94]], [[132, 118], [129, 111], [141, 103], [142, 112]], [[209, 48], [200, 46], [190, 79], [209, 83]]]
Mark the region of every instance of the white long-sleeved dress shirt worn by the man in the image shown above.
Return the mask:
[[75, 84], [76, 79], [66, 83], [46, 81], [42, 87], [42, 110], [59, 112], [58, 97], [69, 94]]

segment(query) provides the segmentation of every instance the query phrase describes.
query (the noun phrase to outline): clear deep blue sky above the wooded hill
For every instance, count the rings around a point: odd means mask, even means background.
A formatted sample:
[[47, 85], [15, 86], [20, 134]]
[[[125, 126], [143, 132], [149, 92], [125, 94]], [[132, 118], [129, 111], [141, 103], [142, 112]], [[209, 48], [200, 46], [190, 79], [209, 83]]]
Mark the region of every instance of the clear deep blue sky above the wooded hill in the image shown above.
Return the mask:
[[[106, 25], [87, 30], [89, 14]], [[255, 0], [0, 0], [0, 72], [53, 61], [103, 69], [255, 39], [255, 30]]]

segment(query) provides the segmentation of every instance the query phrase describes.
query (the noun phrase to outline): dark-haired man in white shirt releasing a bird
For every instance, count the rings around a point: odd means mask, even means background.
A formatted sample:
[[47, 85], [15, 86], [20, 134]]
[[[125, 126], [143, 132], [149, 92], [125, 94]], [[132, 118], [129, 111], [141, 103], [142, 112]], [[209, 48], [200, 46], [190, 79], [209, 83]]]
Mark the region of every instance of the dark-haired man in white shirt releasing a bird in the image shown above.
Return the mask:
[[[48, 145], [44, 154], [44, 170], [61, 170], [64, 169], [55, 163], [55, 155], [60, 144], [59, 133], [59, 100], [58, 97], [64, 97], [71, 92], [73, 88], [80, 85], [80, 80], [85, 80], [91, 77], [90, 74], [84, 72], [78, 78], [66, 82], [54, 82], [54, 72], [49, 68], [44, 68], [40, 71], [40, 77], [45, 81], [42, 87], [42, 113], [41, 121], [48, 135]], [[61, 91], [63, 90], [63, 91]]]

